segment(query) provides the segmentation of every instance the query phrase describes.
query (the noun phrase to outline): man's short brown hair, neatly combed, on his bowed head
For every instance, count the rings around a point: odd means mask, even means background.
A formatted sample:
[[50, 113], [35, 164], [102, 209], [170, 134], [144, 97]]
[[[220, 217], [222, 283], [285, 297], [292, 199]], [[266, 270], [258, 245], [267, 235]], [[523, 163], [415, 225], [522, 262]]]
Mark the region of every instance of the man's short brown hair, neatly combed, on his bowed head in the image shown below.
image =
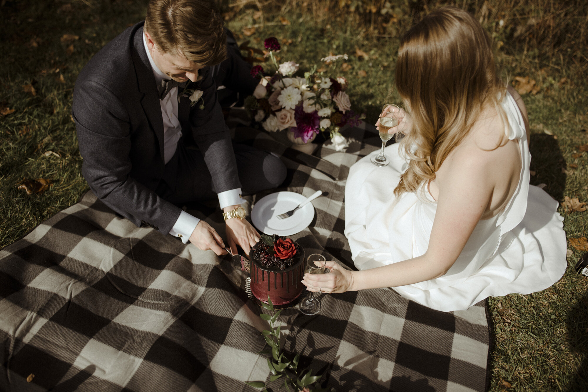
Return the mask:
[[223, 21], [212, 0], [151, 0], [145, 31], [163, 53], [177, 52], [203, 66], [226, 58]]

